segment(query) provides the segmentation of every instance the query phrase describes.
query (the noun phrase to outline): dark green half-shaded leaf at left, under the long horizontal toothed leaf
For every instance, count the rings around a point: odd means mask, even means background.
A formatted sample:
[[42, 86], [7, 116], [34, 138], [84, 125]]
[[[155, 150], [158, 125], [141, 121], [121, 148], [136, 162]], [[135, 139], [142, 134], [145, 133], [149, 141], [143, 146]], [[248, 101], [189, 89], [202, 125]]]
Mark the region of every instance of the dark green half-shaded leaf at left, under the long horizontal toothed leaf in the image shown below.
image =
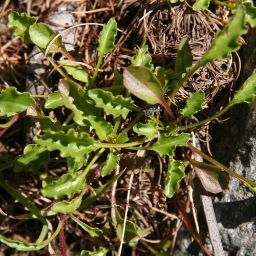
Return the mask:
[[46, 166], [50, 160], [50, 152], [42, 146], [29, 144], [24, 148], [24, 154], [13, 160], [14, 172], [33, 172], [41, 165]]

